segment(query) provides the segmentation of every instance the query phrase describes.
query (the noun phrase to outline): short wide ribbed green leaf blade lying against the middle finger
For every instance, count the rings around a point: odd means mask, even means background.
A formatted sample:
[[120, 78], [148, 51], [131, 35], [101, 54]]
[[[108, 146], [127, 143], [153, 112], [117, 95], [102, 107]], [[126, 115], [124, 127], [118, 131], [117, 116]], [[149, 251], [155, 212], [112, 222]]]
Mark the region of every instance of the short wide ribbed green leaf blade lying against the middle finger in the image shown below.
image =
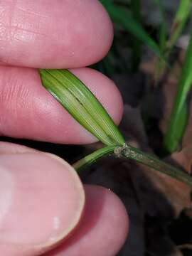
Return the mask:
[[68, 70], [39, 70], [43, 86], [97, 139], [108, 146], [124, 139], [95, 95]]

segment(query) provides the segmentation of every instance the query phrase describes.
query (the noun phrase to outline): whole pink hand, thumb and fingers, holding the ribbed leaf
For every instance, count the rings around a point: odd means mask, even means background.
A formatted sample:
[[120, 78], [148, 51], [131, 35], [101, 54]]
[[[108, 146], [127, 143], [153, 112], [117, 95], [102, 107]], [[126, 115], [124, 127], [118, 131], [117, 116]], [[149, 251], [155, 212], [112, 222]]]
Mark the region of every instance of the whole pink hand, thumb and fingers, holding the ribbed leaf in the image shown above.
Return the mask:
[[[37, 68], [70, 68], [118, 124], [117, 87], [84, 68], [105, 56], [112, 37], [97, 0], [0, 1], [0, 136], [95, 141], [42, 87]], [[82, 186], [56, 156], [0, 142], [0, 192], [4, 256], [113, 256], [127, 238], [119, 198], [106, 188]]]

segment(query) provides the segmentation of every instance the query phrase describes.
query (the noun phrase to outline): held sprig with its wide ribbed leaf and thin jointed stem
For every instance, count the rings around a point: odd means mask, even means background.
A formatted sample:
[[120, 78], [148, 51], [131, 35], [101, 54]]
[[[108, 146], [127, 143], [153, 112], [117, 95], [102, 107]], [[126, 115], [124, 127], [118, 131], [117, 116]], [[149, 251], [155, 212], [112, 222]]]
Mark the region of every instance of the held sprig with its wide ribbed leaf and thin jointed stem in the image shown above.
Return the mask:
[[156, 156], [146, 154], [140, 149], [126, 144], [124, 137], [112, 121], [109, 114], [95, 95], [69, 70], [39, 70], [41, 81], [46, 90], [89, 132], [105, 146], [85, 156], [75, 164], [76, 171], [94, 163], [103, 156], [114, 154], [132, 159], [151, 169], [182, 181], [192, 187], [192, 177]]

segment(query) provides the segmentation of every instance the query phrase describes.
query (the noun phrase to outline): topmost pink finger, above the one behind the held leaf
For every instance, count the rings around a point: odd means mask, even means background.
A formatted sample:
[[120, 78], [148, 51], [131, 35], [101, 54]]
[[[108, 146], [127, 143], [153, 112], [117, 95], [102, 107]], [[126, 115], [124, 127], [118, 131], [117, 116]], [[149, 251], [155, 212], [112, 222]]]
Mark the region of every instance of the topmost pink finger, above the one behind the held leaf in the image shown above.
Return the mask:
[[112, 43], [112, 23], [97, 0], [3, 0], [0, 14], [0, 65], [80, 68]]

